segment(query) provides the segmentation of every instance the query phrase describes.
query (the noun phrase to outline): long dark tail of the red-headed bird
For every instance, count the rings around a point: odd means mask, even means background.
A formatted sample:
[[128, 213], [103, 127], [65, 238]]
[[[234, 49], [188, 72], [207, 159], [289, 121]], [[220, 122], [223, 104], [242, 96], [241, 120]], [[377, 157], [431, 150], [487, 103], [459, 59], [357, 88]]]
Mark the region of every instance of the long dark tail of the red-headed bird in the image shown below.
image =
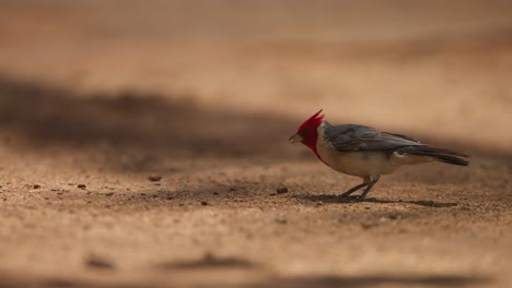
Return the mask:
[[469, 161], [464, 159], [469, 157], [467, 154], [443, 149], [443, 148], [435, 148], [430, 146], [409, 146], [400, 148], [400, 153], [407, 153], [410, 155], [423, 156], [427, 158], [431, 158], [437, 161], [447, 163], [452, 165], [459, 165], [459, 166], [468, 166]]

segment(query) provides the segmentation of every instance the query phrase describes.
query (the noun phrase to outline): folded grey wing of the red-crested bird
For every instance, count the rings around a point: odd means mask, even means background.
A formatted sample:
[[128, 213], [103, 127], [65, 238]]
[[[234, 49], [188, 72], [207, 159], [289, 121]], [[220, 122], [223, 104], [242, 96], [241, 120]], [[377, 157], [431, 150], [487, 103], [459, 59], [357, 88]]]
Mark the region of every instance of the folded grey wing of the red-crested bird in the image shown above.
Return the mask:
[[324, 140], [337, 151], [394, 151], [402, 147], [424, 145], [414, 137], [379, 132], [373, 128], [357, 124], [330, 125], [326, 122]]

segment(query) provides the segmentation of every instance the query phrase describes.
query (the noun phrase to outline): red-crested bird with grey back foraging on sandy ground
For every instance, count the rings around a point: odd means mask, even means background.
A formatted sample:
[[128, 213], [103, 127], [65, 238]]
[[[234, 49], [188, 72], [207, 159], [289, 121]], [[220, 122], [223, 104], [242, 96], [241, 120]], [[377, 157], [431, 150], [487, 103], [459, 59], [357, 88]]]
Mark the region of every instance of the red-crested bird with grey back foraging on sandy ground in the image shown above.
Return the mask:
[[[360, 124], [333, 125], [322, 109], [305, 120], [290, 139], [302, 143], [334, 170], [362, 178], [363, 182], [339, 196], [363, 201], [382, 175], [406, 165], [441, 161], [467, 166], [469, 156], [452, 149], [432, 147], [403, 134], [380, 132]], [[351, 194], [364, 188], [359, 196]]]

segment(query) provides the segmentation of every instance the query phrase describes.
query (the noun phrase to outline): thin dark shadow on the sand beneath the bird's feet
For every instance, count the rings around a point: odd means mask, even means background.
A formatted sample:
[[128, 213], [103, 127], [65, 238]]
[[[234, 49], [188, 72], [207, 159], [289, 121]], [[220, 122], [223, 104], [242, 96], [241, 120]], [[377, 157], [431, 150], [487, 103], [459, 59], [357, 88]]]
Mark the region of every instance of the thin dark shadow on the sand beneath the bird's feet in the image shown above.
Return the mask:
[[444, 208], [444, 207], [454, 207], [457, 206], [457, 203], [454, 202], [435, 202], [430, 200], [383, 200], [375, 197], [365, 197], [360, 201], [358, 196], [348, 196], [341, 197], [340, 195], [331, 194], [307, 194], [295, 196], [300, 200], [311, 201], [311, 202], [322, 202], [322, 203], [336, 203], [336, 204], [354, 204], [354, 203], [380, 203], [380, 204], [391, 204], [391, 203], [405, 203], [405, 204], [415, 204], [427, 207], [434, 208]]

